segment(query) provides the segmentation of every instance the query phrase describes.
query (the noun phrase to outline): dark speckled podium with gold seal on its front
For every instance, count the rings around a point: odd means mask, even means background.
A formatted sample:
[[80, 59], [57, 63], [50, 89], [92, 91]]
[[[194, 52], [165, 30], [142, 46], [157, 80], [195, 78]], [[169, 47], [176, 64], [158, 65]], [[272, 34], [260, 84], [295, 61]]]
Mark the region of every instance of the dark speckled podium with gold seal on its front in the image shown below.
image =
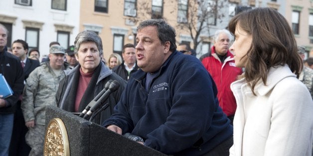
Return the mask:
[[[45, 127], [47, 131], [49, 130], [50, 121], [56, 118], [64, 123], [67, 132], [65, 137], [68, 138], [69, 144], [69, 148], [65, 151], [70, 156], [166, 156], [56, 106], [46, 107]], [[49, 138], [47, 134], [45, 138]], [[55, 136], [50, 138], [55, 138]], [[57, 145], [46, 146], [46, 139], [44, 150], [51, 150], [52, 147], [59, 148]], [[49, 155], [53, 154], [47, 156]]]

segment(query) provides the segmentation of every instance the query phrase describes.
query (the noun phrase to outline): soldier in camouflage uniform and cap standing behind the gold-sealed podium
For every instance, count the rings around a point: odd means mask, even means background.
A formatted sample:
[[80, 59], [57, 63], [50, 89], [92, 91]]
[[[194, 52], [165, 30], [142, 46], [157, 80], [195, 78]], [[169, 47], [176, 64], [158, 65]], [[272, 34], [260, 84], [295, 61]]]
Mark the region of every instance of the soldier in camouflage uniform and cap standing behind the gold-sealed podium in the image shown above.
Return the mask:
[[29, 128], [26, 143], [31, 147], [29, 156], [43, 155], [45, 107], [55, 104], [59, 82], [64, 78], [64, 48], [50, 47], [50, 61], [43, 63], [27, 78], [21, 104], [25, 125]]

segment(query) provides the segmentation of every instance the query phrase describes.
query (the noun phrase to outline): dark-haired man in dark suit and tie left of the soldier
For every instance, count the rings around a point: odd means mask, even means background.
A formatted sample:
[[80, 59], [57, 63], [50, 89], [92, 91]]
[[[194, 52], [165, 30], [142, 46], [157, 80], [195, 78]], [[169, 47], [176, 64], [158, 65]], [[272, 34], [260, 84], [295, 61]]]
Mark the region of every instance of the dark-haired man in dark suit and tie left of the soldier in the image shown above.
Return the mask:
[[[29, 74], [38, 66], [39, 61], [27, 58], [28, 44], [23, 40], [15, 40], [12, 43], [12, 53], [20, 59], [23, 67], [24, 82]], [[25, 142], [25, 135], [28, 131], [25, 126], [23, 114], [21, 112], [20, 104], [21, 98], [16, 103], [16, 111], [14, 113], [13, 132], [9, 148], [9, 156], [28, 156], [30, 147]]]

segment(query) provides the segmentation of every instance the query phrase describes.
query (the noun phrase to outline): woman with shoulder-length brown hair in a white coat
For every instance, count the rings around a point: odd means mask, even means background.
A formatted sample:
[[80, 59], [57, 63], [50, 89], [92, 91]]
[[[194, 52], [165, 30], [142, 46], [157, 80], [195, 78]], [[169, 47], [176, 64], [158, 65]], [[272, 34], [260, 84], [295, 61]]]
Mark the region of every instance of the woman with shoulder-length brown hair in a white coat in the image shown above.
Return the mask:
[[234, 16], [229, 30], [243, 79], [231, 84], [237, 101], [231, 156], [311, 156], [313, 101], [297, 79], [302, 60], [287, 20], [275, 9]]

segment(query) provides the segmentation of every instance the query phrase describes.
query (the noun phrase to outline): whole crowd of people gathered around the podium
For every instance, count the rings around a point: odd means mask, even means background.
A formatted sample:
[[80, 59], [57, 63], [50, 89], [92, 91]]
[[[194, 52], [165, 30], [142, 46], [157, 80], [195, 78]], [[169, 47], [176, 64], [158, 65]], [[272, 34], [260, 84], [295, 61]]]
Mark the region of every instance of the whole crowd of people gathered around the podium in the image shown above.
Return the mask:
[[136, 45], [107, 65], [92, 31], [66, 50], [51, 42], [41, 63], [23, 40], [9, 54], [7, 34], [0, 24], [0, 74], [14, 92], [0, 95], [0, 156], [42, 156], [45, 107], [80, 113], [111, 80], [120, 86], [92, 122], [166, 155], [312, 155], [312, 58], [275, 9], [238, 13], [199, 59], [163, 19], [140, 22]]

